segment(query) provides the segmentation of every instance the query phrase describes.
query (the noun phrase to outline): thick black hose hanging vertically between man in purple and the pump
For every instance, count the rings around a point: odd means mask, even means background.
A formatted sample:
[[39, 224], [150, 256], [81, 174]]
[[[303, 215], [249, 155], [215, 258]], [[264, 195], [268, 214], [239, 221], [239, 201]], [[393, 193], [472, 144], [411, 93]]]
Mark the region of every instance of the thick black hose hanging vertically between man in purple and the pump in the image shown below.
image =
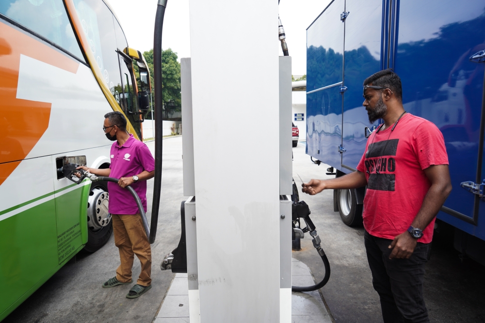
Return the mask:
[[153, 77], [155, 79], [155, 177], [153, 183], [153, 203], [151, 214], [151, 232], [149, 242], [155, 242], [157, 235], [158, 210], [160, 208], [160, 193], [162, 191], [162, 30], [163, 16], [167, 0], [159, 0], [157, 5], [157, 14], [155, 16], [155, 31], [153, 35]]

